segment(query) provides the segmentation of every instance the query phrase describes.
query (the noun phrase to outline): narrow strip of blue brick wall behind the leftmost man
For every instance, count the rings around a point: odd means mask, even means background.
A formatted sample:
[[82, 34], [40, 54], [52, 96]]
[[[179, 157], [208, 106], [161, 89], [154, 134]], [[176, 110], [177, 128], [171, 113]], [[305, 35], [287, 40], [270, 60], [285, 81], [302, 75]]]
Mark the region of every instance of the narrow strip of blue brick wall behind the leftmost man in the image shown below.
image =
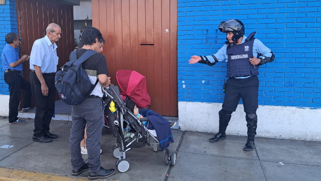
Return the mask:
[[9, 32], [18, 32], [15, 0], [6, 0], [5, 5], [0, 5], [0, 94], [5, 95], [9, 95], [9, 90], [3, 79], [4, 70], [1, 65], [1, 54], [5, 45], [5, 35]]

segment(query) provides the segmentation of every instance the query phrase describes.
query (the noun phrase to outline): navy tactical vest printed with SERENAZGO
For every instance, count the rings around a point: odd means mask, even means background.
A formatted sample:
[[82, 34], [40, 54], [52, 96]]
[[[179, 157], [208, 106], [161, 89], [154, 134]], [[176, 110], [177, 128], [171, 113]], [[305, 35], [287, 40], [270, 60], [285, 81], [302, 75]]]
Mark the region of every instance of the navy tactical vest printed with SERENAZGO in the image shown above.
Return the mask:
[[249, 62], [250, 58], [253, 58], [253, 42], [254, 35], [251, 34], [241, 44], [229, 44], [227, 45], [226, 54], [227, 59], [227, 74], [226, 77], [245, 77], [249, 75], [258, 75], [259, 66], [252, 65]]

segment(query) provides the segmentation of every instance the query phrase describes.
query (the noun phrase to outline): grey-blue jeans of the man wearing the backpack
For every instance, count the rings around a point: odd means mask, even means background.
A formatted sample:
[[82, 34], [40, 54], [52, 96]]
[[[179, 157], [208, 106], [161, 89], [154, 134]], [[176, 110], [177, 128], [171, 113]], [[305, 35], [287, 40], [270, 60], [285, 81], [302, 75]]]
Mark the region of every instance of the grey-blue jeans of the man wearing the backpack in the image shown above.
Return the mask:
[[82, 104], [73, 105], [72, 129], [70, 133], [69, 147], [71, 153], [71, 165], [73, 170], [83, 166], [84, 159], [80, 152], [80, 142], [84, 139], [87, 124], [86, 147], [88, 152], [89, 172], [96, 172], [101, 167], [100, 140], [104, 126], [104, 107], [101, 98], [88, 98]]

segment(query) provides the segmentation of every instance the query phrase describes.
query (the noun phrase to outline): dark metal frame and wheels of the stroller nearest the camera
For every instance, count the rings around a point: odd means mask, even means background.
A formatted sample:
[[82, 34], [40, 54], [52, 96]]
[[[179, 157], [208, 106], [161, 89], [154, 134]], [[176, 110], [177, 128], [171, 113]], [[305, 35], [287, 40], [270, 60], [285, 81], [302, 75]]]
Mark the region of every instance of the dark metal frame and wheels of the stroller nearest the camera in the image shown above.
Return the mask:
[[[103, 89], [105, 102], [110, 105], [111, 101], [114, 103], [115, 109], [108, 109], [108, 122], [110, 132], [117, 137], [117, 143], [113, 149], [113, 156], [117, 159], [115, 162], [116, 168], [119, 172], [124, 173], [129, 169], [129, 162], [126, 160], [126, 152], [132, 148], [144, 147], [145, 145], [153, 145], [154, 152], [160, 151], [160, 142], [153, 136], [142, 122], [126, 108], [126, 104], [122, 100], [119, 89], [117, 86], [110, 85], [108, 88]], [[113, 104], [112, 104], [113, 105]], [[114, 112], [112, 112], [112, 110]], [[111, 113], [111, 114], [110, 114]], [[112, 122], [111, 122], [112, 121]], [[128, 124], [132, 128], [132, 133], [124, 135], [124, 125]], [[112, 125], [115, 127], [112, 128]], [[152, 142], [150, 142], [152, 139]], [[176, 163], [176, 153], [171, 153], [167, 148], [164, 149], [164, 162], [168, 165], [174, 166]]]

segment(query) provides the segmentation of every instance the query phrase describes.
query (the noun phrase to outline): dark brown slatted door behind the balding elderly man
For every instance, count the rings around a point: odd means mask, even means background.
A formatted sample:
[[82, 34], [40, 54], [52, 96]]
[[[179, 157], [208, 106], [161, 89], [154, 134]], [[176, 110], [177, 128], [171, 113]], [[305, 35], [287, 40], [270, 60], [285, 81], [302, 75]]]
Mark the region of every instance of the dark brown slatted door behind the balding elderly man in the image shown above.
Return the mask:
[[[33, 42], [46, 35], [46, 27], [55, 22], [61, 26], [61, 38], [57, 42], [59, 63], [57, 68], [69, 61], [69, 54], [74, 50], [74, 12], [72, 5], [47, 0], [16, 0], [18, 25], [21, 37], [21, 54], [31, 53]], [[18, 26], [18, 27], [19, 27]], [[29, 61], [23, 64], [23, 77], [29, 81]], [[59, 99], [57, 94], [56, 100]], [[34, 105], [34, 104], [33, 104]]]

